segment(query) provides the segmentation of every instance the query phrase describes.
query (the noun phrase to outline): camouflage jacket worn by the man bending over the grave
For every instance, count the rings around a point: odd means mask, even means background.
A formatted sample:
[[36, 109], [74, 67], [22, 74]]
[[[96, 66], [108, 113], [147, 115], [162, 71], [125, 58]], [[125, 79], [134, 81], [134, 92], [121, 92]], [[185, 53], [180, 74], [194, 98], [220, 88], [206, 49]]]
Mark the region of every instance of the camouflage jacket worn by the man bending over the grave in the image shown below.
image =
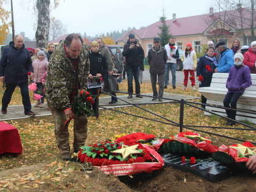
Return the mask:
[[[75, 84], [75, 70], [68, 59], [62, 41], [51, 55], [45, 79], [45, 97], [47, 105], [53, 110], [65, 110], [70, 107], [70, 93]], [[88, 52], [82, 48], [78, 62], [78, 79], [81, 88], [86, 89], [90, 71]]]

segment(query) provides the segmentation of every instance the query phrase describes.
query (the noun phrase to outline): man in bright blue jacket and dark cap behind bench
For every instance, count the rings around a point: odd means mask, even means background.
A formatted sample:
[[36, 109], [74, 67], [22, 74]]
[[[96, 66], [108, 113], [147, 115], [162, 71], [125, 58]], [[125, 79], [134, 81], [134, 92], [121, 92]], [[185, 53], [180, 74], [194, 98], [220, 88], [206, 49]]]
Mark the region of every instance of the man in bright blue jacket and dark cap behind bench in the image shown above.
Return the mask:
[[227, 48], [226, 42], [221, 41], [216, 46], [220, 52], [219, 66], [215, 68], [215, 73], [229, 73], [230, 68], [234, 65], [234, 52]]

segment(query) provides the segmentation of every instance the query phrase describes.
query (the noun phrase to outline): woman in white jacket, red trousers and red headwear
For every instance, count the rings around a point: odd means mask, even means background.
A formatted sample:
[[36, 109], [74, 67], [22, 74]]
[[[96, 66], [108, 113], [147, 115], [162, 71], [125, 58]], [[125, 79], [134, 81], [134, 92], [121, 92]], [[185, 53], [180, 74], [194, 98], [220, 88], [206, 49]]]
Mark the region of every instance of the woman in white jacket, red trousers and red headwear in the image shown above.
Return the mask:
[[193, 91], [196, 90], [196, 80], [195, 80], [195, 73], [196, 70], [196, 52], [192, 49], [191, 43], [187, 44], [186, 50], [183, 52], [183, 55], [181, 56], [181, 60], [183, 62], [183, 69], [184, 69], [184, 81], [183, 81], [183, 87], [181, 90], [186, 90], [188, 85], [188, 73], [190, 74], [190, 81]]

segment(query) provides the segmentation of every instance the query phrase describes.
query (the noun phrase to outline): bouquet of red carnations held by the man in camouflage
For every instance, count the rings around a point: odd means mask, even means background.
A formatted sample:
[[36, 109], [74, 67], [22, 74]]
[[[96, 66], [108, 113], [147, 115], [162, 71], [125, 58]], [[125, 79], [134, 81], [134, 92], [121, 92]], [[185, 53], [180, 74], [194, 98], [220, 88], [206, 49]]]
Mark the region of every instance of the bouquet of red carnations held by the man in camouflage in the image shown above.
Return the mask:
[[[95, 102], [97, 95], [92, 95], [88, 91], [80, 91], [74, 98], [74, 101], [69, 109], [72, 109], [76, 116], [94, 115], [92, 105]], [[66, 130], [72, 119], [69, 118], [65, 124], [61, 127], [60, 131]]]

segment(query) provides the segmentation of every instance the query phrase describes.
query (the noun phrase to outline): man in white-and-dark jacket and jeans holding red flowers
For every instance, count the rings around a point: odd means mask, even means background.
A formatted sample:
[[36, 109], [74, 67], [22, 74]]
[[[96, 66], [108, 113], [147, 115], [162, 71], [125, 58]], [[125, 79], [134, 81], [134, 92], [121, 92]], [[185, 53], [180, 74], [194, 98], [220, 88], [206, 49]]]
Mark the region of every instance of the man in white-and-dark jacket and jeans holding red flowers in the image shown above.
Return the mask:
[[169, 82], [169, 71], [172, 71], [172, 88], [176, 89], [176, 62], [180, 57], [178, 46], [175, 45], [174, 37], [171, 37], [169, 44], [164, 46], [167, 54], [167, 61], [165, 63], [165, 75], [164, 75], [164, 89], [167, 89]]

